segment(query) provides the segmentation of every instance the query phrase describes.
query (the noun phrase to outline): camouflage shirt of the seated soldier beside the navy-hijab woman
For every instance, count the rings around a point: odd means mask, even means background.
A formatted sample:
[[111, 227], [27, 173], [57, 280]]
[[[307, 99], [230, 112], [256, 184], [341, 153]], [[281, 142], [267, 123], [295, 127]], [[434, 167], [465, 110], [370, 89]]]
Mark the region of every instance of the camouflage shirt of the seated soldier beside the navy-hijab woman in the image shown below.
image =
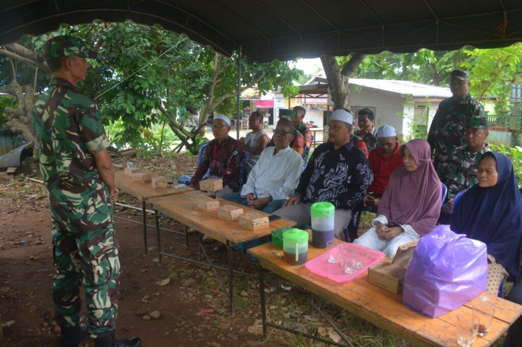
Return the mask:
[[442, 163], [437, 175], [448, 188], [447, 199], [453, 199], [458, 192], [477, 184], [477, 169], [484, 153], [490, 152], [486, 144], [479, 152], [470, 152], [467, 146], [457, 147], [446, 162]]

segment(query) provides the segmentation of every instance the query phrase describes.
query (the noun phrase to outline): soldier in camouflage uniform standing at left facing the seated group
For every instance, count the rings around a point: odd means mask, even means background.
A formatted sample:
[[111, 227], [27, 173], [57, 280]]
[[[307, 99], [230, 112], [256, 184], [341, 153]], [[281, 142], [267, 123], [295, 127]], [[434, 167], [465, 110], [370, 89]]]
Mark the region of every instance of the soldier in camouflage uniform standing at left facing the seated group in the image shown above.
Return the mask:
[[43, 53], [52, 79], [34, 104], [33, 126], [51, 207], [52, 294], [62, 345], [77, 346], [87, 336], [79, 324], [83, 281], [87, 330], [95, 346], [138, 347], [136, 337], [114, 340], [120, 260], [112, 207], [118, 191], [98, 108], [76, 89], [89, 67], [85, 58], [96, 53], [75, 36], [50, 39]]

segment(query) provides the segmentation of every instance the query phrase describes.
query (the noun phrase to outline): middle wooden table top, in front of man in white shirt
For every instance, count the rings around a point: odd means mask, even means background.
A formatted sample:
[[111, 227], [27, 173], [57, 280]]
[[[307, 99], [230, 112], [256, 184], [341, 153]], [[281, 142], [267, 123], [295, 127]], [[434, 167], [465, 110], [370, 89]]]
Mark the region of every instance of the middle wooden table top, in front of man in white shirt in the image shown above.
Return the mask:
[[[250, 207], [220, 199], [219, 197], [217, 199], [219, 200], [219, 206], [233, 205], [242, 208], [243, 213], [255, 211], [268, 216], [268, 214]], [[226, 243], [227, 240], [232, 244], [252, 241], [270, 235], [270, 233], [275, 229], [295, 225], [295, 222], [281, 218], [270, 222], [268, 228], [250, 230], [240, 226], [238, 220], [228, 221], [218, 218], [217, 211], [199, 211], [197, 209], [197, 200], [186, 194], [158, 197], [151, 199], [148, 202], [152, 204], [153, 208], [157, 209], [165, 216], [174, 218], [180, 223], [203, 232], [212, 239], [218, 240], [222, 243]]]

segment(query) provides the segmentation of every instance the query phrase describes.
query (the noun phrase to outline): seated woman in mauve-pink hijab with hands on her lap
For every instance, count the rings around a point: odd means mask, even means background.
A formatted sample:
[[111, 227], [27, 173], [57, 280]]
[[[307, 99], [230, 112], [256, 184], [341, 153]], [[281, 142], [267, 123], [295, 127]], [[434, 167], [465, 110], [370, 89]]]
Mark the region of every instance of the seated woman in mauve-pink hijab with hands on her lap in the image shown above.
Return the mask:
[[422, 139], [401, 146], [403, 164], [390, 177], [372, 228], [354, 241], [393, 258], [400, 245], [418, 240], [435, 227], [441, 212], [442, 184]]

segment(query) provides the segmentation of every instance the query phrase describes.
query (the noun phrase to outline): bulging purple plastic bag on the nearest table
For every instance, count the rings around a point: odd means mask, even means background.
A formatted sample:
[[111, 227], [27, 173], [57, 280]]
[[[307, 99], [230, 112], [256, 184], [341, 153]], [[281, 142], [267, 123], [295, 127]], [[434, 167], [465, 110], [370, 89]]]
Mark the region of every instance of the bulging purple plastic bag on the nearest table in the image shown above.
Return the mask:
[[485, 243], [440, 225], [415, 247], [404, 276], [402, 303], [435, 318], [483, 292], [487, 280]]

